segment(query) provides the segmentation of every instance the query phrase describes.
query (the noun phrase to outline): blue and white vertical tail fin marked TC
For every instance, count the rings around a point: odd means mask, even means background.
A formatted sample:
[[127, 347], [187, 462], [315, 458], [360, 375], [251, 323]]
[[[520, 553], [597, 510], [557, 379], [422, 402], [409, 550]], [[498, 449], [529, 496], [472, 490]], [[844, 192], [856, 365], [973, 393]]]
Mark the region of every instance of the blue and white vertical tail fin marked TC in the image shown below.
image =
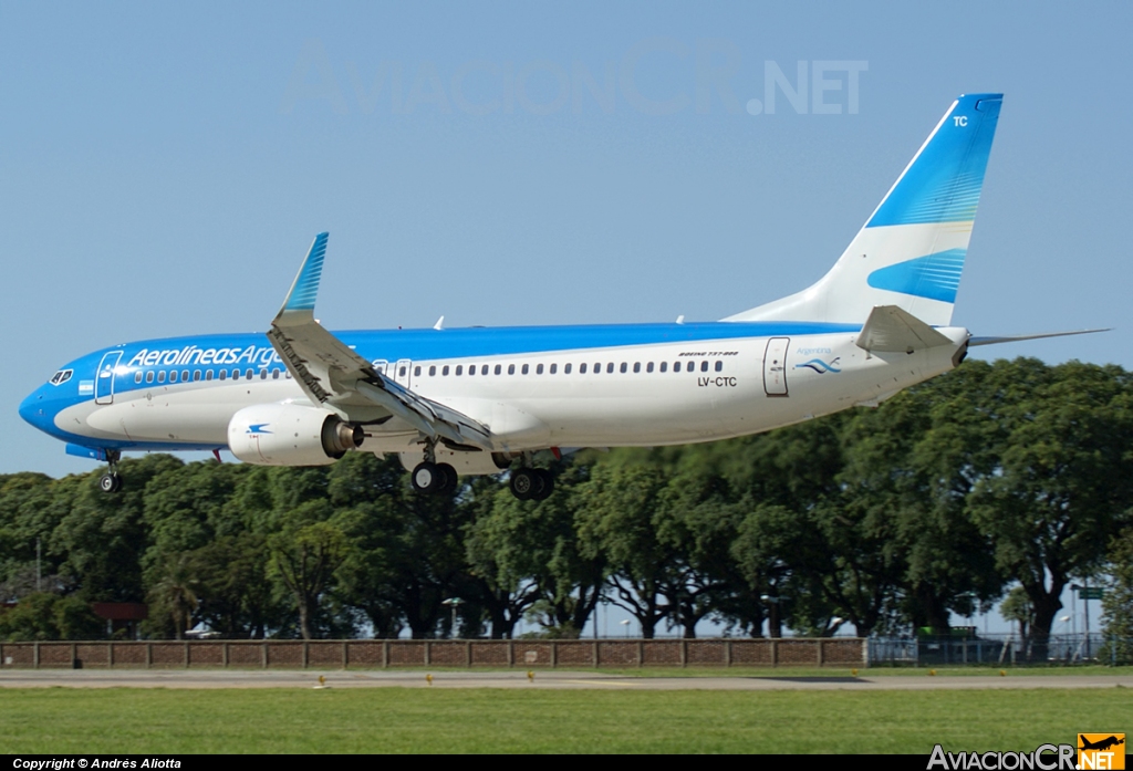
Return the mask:
[[953, 102], [829, 273], [724, 320], [860, 324], [875, 307], [896, 306], [947, 326], [1002, 102], [1003, 94]]

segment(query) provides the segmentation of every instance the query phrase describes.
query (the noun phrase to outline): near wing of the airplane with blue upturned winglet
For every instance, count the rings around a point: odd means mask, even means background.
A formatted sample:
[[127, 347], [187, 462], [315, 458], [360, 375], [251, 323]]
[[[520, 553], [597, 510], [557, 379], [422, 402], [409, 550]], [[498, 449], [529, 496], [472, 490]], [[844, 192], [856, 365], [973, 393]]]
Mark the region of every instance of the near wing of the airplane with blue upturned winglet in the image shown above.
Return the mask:
[[327, 238], [329, 233], [315, 237], [267, 332], [272, 346], [307, 397], [351, 422], [377, 422], [392, 416], [449, 446], [491, 452], [492, 432], [486, 426], [378, 372], [315, 320]]

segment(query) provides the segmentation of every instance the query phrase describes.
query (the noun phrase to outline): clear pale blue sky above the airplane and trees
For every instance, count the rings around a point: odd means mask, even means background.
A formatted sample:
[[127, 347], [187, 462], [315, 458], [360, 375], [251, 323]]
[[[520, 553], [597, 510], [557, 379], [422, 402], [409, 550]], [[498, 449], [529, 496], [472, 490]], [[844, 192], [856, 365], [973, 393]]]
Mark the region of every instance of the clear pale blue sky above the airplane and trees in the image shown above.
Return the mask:
[[104, 345], [262, 331], [322, 230], [332, 328], [787, 294], [963, 92], [1005, 100], [955, 322], [1113, 326], [980, 353], [1133, 365], [1133, 9], [860, 8], [0, 2], [0, 472], [87, 470], [20, 399]]

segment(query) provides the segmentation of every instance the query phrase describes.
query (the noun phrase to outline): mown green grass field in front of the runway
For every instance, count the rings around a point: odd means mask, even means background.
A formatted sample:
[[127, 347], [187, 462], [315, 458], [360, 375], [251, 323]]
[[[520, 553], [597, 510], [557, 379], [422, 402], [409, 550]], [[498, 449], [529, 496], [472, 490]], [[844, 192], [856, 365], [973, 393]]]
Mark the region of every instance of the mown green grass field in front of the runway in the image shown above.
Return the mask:
[[[829, 674], [829, 673], [827, 673]], [[0, 753], [923, 753], [1133, 729], [1133, 691], [22, 688]]]

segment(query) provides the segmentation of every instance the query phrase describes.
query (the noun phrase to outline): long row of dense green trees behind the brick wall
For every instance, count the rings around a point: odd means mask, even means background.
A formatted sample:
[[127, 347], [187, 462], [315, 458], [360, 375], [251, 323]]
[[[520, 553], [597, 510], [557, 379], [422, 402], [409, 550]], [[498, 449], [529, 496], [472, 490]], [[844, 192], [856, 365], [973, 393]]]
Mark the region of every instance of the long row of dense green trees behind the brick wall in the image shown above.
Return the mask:
[[576, 636], [602, 602], [646, 637], [706, 618], [868, 636], [946, 632], [1015, 586], [1045, 659], [1063, 589], [1128, 573], [1131, 400], [1116, 366], [970, 361], [878, 409], [552, 461], [543, 502], [495, 478], [420, 496], [395, 457], [363, 453], [305, 469], [146, 455], [113, 495], [100, 471], [9, 474], [0, 637], [100, 636], [93, 601], [147, 602], [152, 639], [199, 623], [230, 639], [510, 637], [523, 618]]

